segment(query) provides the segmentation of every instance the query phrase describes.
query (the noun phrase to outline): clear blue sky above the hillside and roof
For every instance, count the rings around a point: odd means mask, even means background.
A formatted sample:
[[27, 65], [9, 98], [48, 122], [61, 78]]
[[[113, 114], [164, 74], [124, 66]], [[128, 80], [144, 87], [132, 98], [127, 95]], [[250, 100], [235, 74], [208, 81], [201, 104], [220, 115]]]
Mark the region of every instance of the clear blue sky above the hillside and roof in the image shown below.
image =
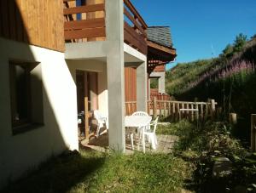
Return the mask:
[[148, 26], [171, 26], [177, 62], [218, 56], [228, 43], [233, 43], [237, 34], [247, 37], [256, 34], [256, 0], [131, 2]]

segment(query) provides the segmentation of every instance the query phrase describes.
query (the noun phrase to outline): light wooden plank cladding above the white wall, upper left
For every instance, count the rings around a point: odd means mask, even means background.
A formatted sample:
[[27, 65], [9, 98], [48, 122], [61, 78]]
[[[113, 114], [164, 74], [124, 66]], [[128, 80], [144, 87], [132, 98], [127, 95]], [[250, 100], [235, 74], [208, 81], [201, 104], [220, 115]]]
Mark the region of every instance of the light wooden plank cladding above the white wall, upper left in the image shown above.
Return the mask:
[[1, 0], [0, 37], [64, 52], [62, 0]]

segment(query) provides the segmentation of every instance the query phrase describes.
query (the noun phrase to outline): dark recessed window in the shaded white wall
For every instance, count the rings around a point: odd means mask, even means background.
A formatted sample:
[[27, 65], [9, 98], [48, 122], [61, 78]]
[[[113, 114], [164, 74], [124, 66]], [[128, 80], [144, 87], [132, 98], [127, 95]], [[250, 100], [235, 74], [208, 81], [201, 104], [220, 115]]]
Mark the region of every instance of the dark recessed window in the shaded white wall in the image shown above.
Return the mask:
[[9, 83], [13, 133], [42, 124], [41, 66], [38, 63], [9, 62]]

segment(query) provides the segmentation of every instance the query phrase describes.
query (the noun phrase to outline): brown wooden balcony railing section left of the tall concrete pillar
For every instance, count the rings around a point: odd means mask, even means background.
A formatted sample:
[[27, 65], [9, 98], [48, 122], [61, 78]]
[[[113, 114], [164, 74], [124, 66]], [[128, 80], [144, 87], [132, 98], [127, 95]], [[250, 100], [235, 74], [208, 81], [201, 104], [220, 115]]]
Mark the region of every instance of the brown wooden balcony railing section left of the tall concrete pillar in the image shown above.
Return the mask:
[[69, 42], [105, 40], [105, 4], [76, 6], [75, 0], [64, 0], [64, 37]]

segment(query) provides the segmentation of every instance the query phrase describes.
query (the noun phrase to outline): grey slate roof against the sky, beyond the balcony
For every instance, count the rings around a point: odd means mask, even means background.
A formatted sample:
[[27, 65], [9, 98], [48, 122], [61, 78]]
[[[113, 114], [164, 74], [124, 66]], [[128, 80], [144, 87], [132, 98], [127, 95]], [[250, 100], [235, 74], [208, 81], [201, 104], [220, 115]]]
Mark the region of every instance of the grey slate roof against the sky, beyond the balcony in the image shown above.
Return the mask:
[[150, 26], [147, 29], [148, 40], [172, 48], [172, 37], [169, 26]]

